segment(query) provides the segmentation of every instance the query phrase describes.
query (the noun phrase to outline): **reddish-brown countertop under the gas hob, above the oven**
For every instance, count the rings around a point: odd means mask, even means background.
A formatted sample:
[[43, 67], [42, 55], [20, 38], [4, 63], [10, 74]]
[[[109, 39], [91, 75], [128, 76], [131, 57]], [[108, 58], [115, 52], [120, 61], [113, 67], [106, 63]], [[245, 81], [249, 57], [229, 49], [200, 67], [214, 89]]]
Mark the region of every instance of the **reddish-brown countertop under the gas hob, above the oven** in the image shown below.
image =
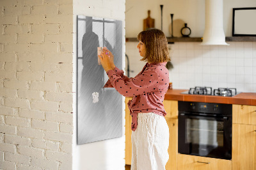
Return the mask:
[[164, 99], [188, 102], [207, 102], [217, 104], [256, 105], [256, 93], [239, 93], [234, 97], [218, 97], [207, 95], [180, 94], [184, 91], [188, 91], [188, 89], [168, 89], [168, 91], [164, 95]]

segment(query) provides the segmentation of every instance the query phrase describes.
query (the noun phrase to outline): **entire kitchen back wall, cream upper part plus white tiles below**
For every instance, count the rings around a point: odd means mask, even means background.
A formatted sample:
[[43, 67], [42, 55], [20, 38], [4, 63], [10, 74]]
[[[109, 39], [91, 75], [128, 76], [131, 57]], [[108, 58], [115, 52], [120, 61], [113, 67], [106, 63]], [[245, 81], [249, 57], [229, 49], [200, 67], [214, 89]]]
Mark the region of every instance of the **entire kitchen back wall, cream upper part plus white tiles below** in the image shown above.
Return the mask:
[[[193, 36], [204, 35], [204, 1], [127, 1], [125, 13], [126, 35], [136, 37], [142, 29], [142, 20], [147, 17], [147, 10], [152, 11], [152, 18], [159, 19], [156, 27], [160, 28], [160, 7], [164, 4], [170, 8], [170, 13], [189, 20]], [[256, 1], [223, 0], [223, 26], [226, 36], [232, 35], [232, 8], [253, 7]], [[131, 8], [132, 7], [132, 8]], [[164, 7], [164, 9], [166, 9]], [[198, 7], [202, 8], [199, 9]], [[151, 9], [152, 8], [152, 9]], [[140, 10], [138, 10], [140, 9]], [[165, 15], [170, 17], [170, 13]], [[137, 16], [137, 17], [135, 17]], [[155, 17], [154, 17], [155, 16]], [[169, 18], [168, 18], [169, 19]], [[135, 24], [134, 24], [135, 23]], [[163, 31], [166, 36], [170, 20], [163, 20]], [[166, 24], [168, 23], [168, 24]], [[227, 42], [230, 46], [202, 46], [198, 42], [175, 42], [169, 45], [173, 70], [170, 72], [170, 82], [173, 88], [189, 89], [195, 86], [210, 86], [212, 88], [237, 88], [241, 92], [256, 92], [256, 42]], [[126, 54], [129, 56], [130, 77], [134, 77], [145, 65], [141, 59], [137, 42], [126, 43]]]

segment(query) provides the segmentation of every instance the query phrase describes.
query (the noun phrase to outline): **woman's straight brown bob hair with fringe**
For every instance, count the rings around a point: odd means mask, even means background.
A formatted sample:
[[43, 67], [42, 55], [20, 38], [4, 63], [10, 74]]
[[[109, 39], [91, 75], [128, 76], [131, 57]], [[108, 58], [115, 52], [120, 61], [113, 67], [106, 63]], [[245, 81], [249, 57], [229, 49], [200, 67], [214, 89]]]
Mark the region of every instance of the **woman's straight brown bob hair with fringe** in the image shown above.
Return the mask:
[[141, 31], [137, 38], [146, 45], [146, 55], [140, 61], [147, 61], [148, 63], [171, 61], [168, 43], [163, 31], [156, 28], [147, 29]]

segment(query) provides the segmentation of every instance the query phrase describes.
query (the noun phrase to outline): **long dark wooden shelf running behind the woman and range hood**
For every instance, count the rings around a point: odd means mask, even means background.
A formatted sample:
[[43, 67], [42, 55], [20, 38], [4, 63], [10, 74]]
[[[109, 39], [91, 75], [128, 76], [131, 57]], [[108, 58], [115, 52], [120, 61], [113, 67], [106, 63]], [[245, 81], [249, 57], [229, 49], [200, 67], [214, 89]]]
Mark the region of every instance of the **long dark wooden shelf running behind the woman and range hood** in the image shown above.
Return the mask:
[[[166, 37], [168, 43], [202, 42], [202, 37]], [[138, 42], [137, 38], [125, 38], [125, 42]], [[228, 36], [226, 42], [256, 42], [256, 36]]]

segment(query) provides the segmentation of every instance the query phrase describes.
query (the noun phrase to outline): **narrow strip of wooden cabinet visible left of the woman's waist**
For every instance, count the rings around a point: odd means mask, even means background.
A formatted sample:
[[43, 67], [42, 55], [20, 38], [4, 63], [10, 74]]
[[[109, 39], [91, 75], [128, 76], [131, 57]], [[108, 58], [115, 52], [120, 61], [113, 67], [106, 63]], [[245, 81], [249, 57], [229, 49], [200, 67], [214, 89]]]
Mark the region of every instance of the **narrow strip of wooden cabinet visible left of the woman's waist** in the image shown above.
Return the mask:
[[132, 142], [131, 142], [131, 123], [132, 116], [130, 116], [130, 110], [127, 103], [132, 100], [132, 97], [125, 97], [125, 164], [131, 165], [132, 162]]

